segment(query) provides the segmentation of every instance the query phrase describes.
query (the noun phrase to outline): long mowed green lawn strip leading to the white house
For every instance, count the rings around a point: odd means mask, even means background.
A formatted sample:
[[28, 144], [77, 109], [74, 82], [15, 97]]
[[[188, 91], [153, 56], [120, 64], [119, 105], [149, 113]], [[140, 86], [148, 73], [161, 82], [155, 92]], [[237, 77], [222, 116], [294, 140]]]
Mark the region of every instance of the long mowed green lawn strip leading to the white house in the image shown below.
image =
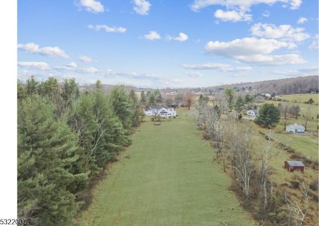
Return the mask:
[[190, 113], [161, 125], [147, 121], [132, 139], [122, 154], [125, 165], [116, 163], [96, 187], [80, 225], [257, 225], [229, 192], [231, 179], [212, 163]]

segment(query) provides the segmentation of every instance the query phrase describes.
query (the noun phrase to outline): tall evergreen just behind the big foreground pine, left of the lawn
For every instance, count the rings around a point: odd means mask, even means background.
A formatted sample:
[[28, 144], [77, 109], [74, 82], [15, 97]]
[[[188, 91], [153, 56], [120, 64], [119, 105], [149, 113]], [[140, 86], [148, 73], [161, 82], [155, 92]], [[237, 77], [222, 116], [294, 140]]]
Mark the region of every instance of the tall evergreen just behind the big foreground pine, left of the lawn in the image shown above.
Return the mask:
[[122, 121], [101, 89], [83, 93], [68, 115], [81, 146], [80, 167], [92, 174], [100, 173], [105, 163], [130, 143]]

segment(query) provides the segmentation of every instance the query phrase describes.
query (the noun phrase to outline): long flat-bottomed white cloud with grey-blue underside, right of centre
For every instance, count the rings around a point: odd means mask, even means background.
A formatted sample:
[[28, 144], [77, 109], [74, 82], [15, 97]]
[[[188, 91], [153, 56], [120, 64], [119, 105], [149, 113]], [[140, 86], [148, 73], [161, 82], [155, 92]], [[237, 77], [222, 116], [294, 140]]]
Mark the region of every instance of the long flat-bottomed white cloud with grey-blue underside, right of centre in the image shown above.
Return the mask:
[[205, 51], [226, 57], [236, 57], [240, 55], [268, 54], [283, 47], [293, 48], [295, 46], [276, 39], [251, 37], [235, 39], [230, 42], [210, 41], [205, 45]]

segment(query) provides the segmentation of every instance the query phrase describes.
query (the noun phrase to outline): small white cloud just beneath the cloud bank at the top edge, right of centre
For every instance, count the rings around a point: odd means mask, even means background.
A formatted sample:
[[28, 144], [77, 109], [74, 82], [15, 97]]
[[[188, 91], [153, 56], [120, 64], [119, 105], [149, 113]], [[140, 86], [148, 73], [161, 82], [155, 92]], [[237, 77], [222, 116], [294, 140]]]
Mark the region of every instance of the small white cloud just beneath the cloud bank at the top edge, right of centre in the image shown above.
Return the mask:
[[214, 13], [214, 16], [223, 21], [250, 21], [252, 20], [251, 14], [246, 14], [245, 10], [231, 10], [224, 11], [221, 9], [217, 9]]

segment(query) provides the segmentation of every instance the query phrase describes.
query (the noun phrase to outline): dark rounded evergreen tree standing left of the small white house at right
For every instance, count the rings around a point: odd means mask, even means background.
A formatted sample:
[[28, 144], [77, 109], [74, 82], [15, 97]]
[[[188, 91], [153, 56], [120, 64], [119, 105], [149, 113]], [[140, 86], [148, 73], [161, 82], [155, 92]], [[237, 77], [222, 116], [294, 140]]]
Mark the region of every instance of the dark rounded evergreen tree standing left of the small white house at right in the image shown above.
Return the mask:
[[254, 122], [270, 128], [280, 121], [280, 110], [274, 104], [263, 104]]

